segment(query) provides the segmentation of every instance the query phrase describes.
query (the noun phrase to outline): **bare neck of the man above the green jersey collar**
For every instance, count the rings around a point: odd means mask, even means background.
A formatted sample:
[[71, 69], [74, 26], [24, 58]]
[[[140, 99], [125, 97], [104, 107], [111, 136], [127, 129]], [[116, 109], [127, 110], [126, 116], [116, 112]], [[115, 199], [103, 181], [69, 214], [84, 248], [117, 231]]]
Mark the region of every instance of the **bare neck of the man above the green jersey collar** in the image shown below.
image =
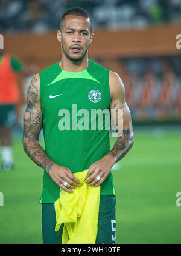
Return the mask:
[[68, 71], [68, 72], [80, 72], [89, 66], [89, 59], [86, 57], [83, 61], [73, 62], [69, 59], [62, 58], [59, 62], [59, 66], [61, 69]]

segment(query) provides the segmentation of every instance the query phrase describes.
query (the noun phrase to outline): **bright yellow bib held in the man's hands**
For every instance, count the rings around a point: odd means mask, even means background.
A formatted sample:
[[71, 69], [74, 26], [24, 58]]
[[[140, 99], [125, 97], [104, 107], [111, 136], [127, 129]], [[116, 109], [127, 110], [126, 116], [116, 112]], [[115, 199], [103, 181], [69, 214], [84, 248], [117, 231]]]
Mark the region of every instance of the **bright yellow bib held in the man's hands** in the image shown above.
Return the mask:
[[62, 244], [95, 244], [98, 231], [100, 186], [89, 186], [84, 179], [88, 170], [74, 173], [80, 180], [73, 193], [60, 189], [60, 197], [54, 203], [56, 211], [55, 231], [64, 223]]

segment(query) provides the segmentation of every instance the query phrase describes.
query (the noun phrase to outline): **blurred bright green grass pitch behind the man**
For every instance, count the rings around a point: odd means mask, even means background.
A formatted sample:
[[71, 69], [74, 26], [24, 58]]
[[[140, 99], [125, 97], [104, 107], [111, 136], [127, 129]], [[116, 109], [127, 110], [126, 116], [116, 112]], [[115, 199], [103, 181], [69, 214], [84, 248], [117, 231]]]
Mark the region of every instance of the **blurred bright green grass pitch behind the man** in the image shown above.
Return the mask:
[[[111, 139], [111, 144], [115, 139]], [[181, 133], [135, 132], [135, 145], [113, 170], [116, 243], [181, 243]], [[0, 172], [0, 243], [42, 243], [43, 169], [14, 140], [16, 167]]]

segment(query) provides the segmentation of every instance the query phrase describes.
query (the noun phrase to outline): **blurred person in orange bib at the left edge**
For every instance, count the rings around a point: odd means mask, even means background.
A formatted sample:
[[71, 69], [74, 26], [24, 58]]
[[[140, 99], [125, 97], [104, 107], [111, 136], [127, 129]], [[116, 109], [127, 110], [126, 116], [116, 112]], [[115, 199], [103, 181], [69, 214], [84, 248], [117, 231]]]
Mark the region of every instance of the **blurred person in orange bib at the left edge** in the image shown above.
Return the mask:
[[16, 123], [16, 104], [21, 98], [15, 72], [22, 72], [21, 61], [0, 49], [0, 143], [2, 147], [1, 170], [14, 167], [12, 127]]

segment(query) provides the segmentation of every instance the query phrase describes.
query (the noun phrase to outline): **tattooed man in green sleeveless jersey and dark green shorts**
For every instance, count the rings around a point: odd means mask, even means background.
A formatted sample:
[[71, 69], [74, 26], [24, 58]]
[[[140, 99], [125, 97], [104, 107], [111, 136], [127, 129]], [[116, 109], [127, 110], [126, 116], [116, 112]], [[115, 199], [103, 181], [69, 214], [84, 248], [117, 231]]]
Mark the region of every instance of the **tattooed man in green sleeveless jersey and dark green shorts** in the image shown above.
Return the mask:
[[[35, 75], [27, 92], [24, 150], [45, 170], [40, 198], [43, 243], [61, 243], [63, 224], [58, 232], [54, 231], [54, 202], [59, 198], [60, 188], [73, 192], [79, 183], [74, 173], [86, 169], [89, 169], [86, 183], [101, 187], [95, 243], [116, 242], [116, 197], [110, 170], [132, 147], [133, 129], [121, 79], [88, 58], [93, 36], [92, 19], [86, 11], [72, 8], [65, 12], [57, 32], [62, 59]], [[77, 112], [86, 109], [89, 113], [92, 109], [123, 109], [122, 134], [112, 150], [109, 130], [104, 129], [105, 120], [102, 130], [87, 129], [87, 126], [75, 129], [82, 116], [71, 120], [72, 106], [76, 106]], [[68, 112], [66, 118], [62, 110]], [[117, 118], [115, 115], [115, 123]], [[66, 129], [62, 129], [63, 124]], [[41, 128], [45, 151], [39, 144]]]

